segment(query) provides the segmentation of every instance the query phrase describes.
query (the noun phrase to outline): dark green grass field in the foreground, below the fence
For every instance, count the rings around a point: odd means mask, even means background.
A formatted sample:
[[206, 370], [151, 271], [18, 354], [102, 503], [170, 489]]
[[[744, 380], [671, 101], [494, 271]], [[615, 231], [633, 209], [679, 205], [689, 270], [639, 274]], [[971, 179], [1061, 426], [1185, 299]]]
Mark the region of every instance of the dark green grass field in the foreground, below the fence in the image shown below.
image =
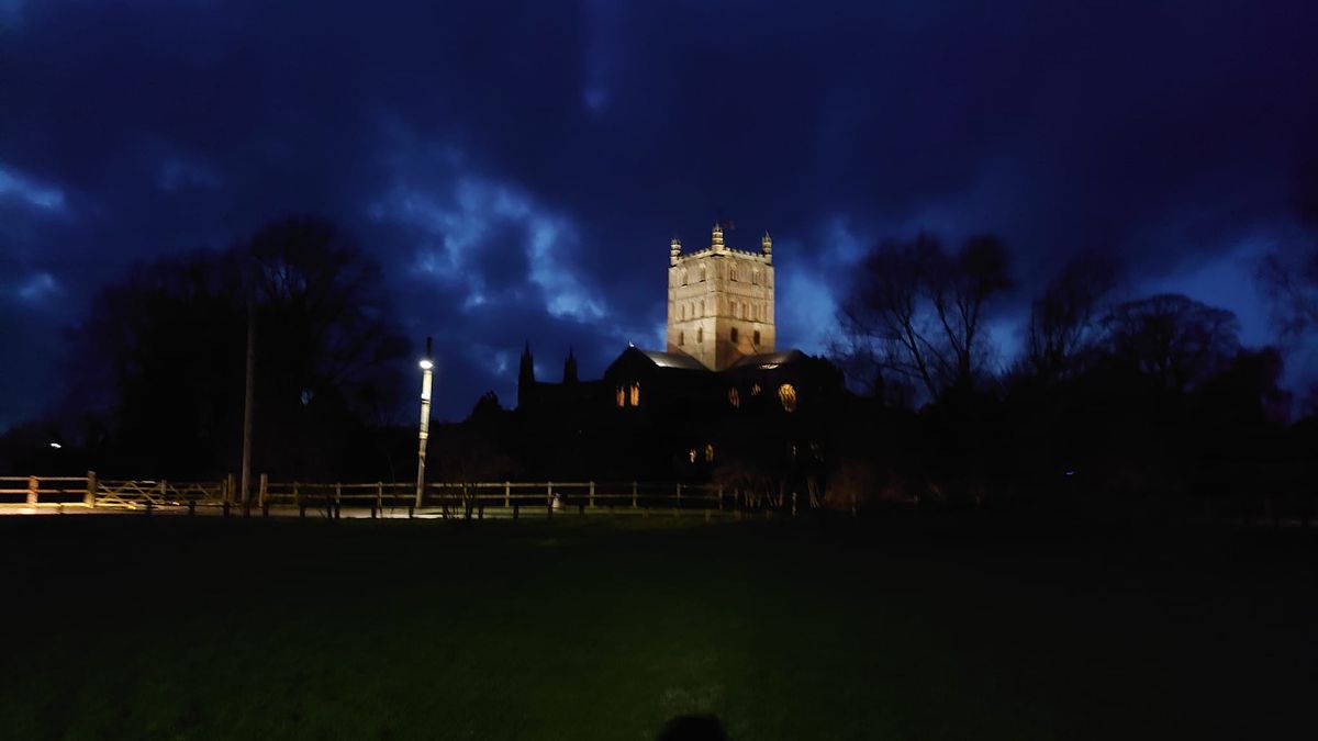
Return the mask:
[[1301, 738], [1307, 534], [3, 518], [5, 738]]

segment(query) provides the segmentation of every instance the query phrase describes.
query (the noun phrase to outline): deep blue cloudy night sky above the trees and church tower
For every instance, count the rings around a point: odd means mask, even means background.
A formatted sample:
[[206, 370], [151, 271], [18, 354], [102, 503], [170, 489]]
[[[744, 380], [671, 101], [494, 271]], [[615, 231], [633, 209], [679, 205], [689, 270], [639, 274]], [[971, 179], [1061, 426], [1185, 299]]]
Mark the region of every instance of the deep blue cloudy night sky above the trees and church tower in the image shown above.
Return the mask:
[[920, 229], [1008, 243], [1002, 363], [1081, 249], [1269, 343], [1315, 38], [1311, 0], [0, 0], [0, 430], [63, 394], [99, 286], [293, 212], [381, 262], [448, 419], [515, 401], [527, 339], [542, 378], [662, 349], [668, 240], [716, 219], [774, 235], [780, 348]]

